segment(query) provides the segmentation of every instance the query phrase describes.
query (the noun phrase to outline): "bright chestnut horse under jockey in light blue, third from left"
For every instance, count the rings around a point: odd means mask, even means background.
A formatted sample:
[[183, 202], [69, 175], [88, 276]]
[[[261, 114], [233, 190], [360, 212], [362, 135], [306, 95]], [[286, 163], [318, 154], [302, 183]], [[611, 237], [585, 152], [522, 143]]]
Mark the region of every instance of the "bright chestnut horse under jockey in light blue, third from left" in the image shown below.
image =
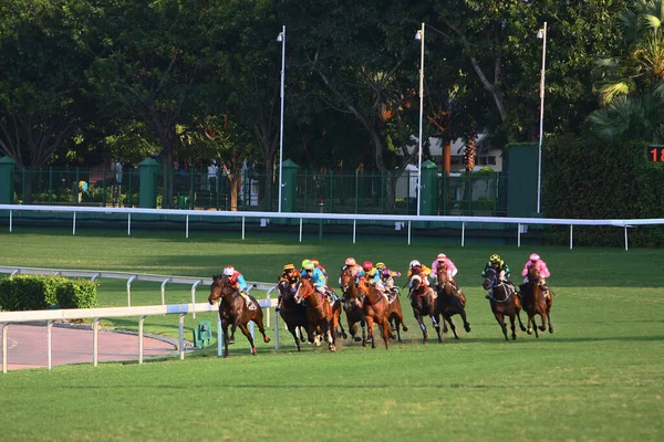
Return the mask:
[[[336, 350], [336, 326], [339, 316], [334, 315], [332, 305], [326, 296], [321, 295], [315, 291], [311, 278], [307, 275], [300, 278], [300, 285], [295, 292], [295, 301], [304, 301], [307, 306], [307, 320], [309, 322], [309, 338], [314, 339], [318, 345], [318, 336], [312, 338], [318, 327], [320, 327], [323, 336], [328, 338], [328, 347], [330, 351]], [[341, 307], [339, 309], [341, 312]], [[336, 318], [336, 322], [335, 322]]]

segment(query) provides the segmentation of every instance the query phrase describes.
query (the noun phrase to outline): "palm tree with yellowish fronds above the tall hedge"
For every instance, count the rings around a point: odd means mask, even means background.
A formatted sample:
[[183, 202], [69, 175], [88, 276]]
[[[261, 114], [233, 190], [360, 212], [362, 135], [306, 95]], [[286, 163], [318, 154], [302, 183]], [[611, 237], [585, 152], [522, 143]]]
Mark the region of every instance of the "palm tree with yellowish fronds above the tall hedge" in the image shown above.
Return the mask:
[[624, 56], [595, 62], [602, 108], [589, 120], [601, 138], [664, 140], [664, 1], [637, 0], [619, 15], [626, 43]]

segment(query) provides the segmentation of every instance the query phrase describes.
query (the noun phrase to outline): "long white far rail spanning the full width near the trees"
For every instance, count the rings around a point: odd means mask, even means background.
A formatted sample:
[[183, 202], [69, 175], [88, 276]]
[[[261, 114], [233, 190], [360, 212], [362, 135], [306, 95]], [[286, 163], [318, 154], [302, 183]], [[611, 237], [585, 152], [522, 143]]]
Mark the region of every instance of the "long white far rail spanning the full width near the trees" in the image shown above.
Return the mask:
[[359, 213], [277, 213], [277, 212], [225, 212], [209, 210], [175, 210], [175, 209], [134, 209], [134, 208], [96, 208], [77, 206], [21, 206], [0, 204], [0, 210], [9, 211], [9, 231], [13, 230], [13, 212], [65, 212], [72, 213], [72, 234], [76, 234], [76, 213], [121, 213], [127, 217], [127, 235], [132, 234], [132, 214], [153, 215], [180, 215], [185, 217], [185, 235], [189, 238], [189, 217], [224, 217], [241, 221], [242, 240], [247, 219], [269, 220], [290, 219], [300, 221], [300, 242], [302, 242], [303, 220], [345, 220], [353, 221], [353, 243], [356, 240], [357, 221], [387, 221], [395, 225], [408, 224], [408, 244], [411, 244], [413, 222], [458, 222], [461, 227], [461, 246], [465, 245], [466, 225], [470, 223], [504, 223], [515, 224], [517, 244], [521, 246], [521, 234], [528, 230], [528, 225], [569, 225], [570, 249], [573, 248], [574, 225], [613, 225], [624, 229], [624, 245], [627, 245], [627, 228], [636, 225], [664, 224], [664, 219], [629, 219], [629, 220], [577, 220], [577, 219], [550, 219], [550, 218], [498, 218], [498, 217], [437, 217], [437, 215], [398, 215], [398, 214], [359, 214]]

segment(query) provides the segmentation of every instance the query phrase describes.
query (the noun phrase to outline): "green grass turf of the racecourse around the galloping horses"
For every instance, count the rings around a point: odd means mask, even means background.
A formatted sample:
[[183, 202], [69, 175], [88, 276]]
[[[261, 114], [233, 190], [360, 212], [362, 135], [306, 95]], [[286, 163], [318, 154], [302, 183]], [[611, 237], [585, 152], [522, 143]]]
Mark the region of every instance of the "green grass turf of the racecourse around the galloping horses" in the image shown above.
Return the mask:
[[[506, 343], [478, 275], [496, 252], [519, 273], [530, 249], [461, 249], [457, 241], [417, 236], [411, 246], [378, 239], [352, 244], [342, 236], [302, 244], [297, 235], [183, 236], [20, 229], [0, 232], [0, 264], [209, 276], [232, 263], [248, 280], [270, 282], [282, 263], [314, 256], [334, 281], [347, 255], [403, 272], [412, 259], [428, 265], [444, 251], [459, 267], [473, 330], [423, 345], [403, 297], [411, 332], [388, 351], [346, 341], [335, 354], [309, 345], [298, 354], [282, 333], [282, 349], [261, 341], [251, 357], [238, 334], [226, 360], [216, 357], [214, 341], [185, 361], [10, 371], [0, 376], [2, 440], [664, 438], [661, 251], [538, 248], [553, 272], [556, 333], [539, 339], [519, 333]], [[189, 287], [167, 287], [168, 303], [190, 298]], [[102, 281], [98, 295], [101, 306], [126, 305], [124, 282]], [[159, 284], [134, 283], [132, 297], [133, 305], [158, 304]], [[207, 316], [196, 320], [215, 320]], [[175, 315], [147, 322], [148, 332], [176, 336]], [[132, 328], [136, 322], [107, 325]]]

